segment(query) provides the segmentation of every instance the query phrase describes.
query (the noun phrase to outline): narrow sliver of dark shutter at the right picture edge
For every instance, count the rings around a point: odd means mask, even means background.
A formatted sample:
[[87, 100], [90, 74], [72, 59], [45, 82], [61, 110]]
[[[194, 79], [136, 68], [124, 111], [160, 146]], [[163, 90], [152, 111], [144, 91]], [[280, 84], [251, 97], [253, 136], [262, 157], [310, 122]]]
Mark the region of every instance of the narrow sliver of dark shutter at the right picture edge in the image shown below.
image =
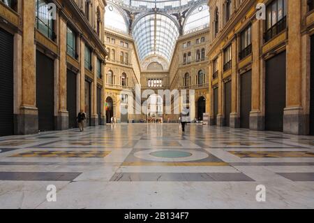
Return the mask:
[[311, 103], [310, 103], [310, 134], [314, 136], [314, 36], [311, 36]]

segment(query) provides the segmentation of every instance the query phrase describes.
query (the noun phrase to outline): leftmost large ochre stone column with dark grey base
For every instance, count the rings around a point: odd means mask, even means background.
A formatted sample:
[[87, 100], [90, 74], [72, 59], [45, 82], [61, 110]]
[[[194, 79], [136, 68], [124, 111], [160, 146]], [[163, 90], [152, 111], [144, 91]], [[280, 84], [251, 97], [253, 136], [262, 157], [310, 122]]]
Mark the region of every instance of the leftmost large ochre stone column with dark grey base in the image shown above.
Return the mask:
[[[15, 37], [20, 43], [20, 62], [22, 64], [22, 91], [20, 109], [15, 115], [15, 134], [38, 133], [38, 109], [36, 108], [36, 45], [34, 41], [35, 1], [22, 1], [22, 38]], [[20, 34], [17, 34], [20, 35]], [[22, 43], [21, 43], [22, 41]], [[17, 45], [15, 45], [17, 47]], [[19, 57], [19, 56], [17, 56]]]

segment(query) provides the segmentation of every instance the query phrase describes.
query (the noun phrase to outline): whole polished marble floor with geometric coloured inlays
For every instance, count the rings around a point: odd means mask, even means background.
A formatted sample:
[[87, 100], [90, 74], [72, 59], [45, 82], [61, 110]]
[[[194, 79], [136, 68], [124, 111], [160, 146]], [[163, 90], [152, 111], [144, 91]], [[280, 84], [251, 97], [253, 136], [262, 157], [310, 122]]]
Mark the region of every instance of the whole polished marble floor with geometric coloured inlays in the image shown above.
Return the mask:
[[314, 137], [179, 124], [2, 137], [0, 208], [314, 208]]

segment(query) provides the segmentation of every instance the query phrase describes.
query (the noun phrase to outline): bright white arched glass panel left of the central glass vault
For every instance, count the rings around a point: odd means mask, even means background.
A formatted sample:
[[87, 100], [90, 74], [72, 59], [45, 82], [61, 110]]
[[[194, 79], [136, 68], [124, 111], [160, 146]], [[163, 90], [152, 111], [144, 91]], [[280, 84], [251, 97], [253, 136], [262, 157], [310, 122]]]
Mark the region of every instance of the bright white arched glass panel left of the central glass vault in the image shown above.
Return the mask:
[[126, 24], [124, 15], [122, 15], [121, 10], [112, 4], [108, 4], [105, 9], [105, 27], [128, 34], [128, 24]]

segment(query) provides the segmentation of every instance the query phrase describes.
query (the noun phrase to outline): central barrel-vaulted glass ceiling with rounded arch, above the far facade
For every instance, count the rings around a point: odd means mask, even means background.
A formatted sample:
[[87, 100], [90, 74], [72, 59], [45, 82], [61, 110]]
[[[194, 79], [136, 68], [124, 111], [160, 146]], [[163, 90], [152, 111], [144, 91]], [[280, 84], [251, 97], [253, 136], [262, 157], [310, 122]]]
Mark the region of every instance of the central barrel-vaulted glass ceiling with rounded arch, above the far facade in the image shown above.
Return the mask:
[[154, 13], [137, 21], [133, 37], [140, 60], [150, 55], [159, 55], [170, 62], [179, 30], [169, 17]]

